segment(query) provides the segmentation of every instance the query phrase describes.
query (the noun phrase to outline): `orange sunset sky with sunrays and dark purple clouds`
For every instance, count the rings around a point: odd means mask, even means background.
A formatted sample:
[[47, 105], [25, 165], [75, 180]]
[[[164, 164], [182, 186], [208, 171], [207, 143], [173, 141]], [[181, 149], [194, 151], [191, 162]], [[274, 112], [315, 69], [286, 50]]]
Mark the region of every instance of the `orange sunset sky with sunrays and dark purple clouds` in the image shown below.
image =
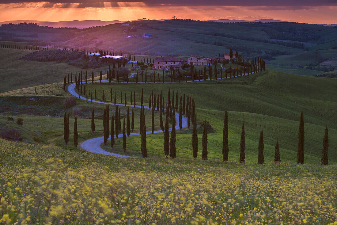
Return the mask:
[[335, 24], [337, 0], [0, 0], [0, 21], [275, 19]]

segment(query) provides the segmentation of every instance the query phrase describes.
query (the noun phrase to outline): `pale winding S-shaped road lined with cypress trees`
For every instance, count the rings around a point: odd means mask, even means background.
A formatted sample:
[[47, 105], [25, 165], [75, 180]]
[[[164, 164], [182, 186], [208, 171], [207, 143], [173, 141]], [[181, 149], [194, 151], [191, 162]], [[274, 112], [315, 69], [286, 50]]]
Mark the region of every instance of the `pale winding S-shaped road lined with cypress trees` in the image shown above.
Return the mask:
[[[94, 81], [94, 82], [99, 82], [99, 81]], [[109, 82], [109, 80], [102, 80], [102, 82]], [[68, 92], [70, 94], [74, 95], [75, 97], [79, 97], [80, 99], [86, 100], [86, 97], [83, 97], [83, 96], [79, 95], [78, 93], [76, 93], [75, 87], [76, 87], [75, 83], [70, 84], [68, 86]], [[104, 104], [104, 102], [97, 101], [97, 100], [92, 100], [92, 102]], [[108, 103], [108, 102], [106, 102], [105, 104], [115, 105], [114, 103]], [[125, 106], [124, 104], [116, 104], [116, 105]], [[133, 107], [133, 105], [126, 105], [126, 106]], [[136, 108], [141, 108], [141, 106], [136, 105]], [[144, 108], [149, 109], [148, 106], [144, 106]], [[176, 130], [178, 130], [179, 129], [179, 113], [177, 113], [177, 112], [176, 112], [176, 122], [177, 122]], [[182, 116], [182, 128], [186, 128], [186, 127], [187, 127], [187, 118], [185, 116]], [[171, 131], [172, 128], [170, 128], [169, 130]], [[162, 132], [161, 130], [154, 131], [154, 133], [161, 133], [161, 132]], [[152, 131], [148, 131], [148, 132], [146, 132], [146, 134], [152, 134]], [[133, 135], [140, 135], [140, 133], [138, 132], [138, 133], [131, 133], [130, 134], [130, 136], [133, 136]], [[114, 135], [114, 138], [116, 138], [116, 135]], [[110, 139], [111, 139], [111, 135], [109, 136], [109, 140]], [[100, 147], [100, 145], [103, 142], [104, 142], [104, 137], [97, 137], [97, 138], [92, 138], [92, 139], [88, 139], [86, 141], [83, 141], [82, 143], [80, 143], [80, 146], [84, 150], [92, 152], [92, 153], [115, 156], [115, 157], [118, 157], [118, 158], [135, 158], [135, 157], [132, 157], [132, 156], [124, 156], [124, 155], [121, 155], [121, 154], [105, 151], [103, 148]]]

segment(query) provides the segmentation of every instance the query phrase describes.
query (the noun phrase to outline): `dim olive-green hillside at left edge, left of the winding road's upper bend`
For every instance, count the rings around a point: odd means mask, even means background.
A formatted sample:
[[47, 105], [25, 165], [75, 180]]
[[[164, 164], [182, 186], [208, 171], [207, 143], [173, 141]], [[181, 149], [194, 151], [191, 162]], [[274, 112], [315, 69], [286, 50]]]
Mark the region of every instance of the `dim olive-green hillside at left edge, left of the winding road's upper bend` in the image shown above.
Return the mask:
[[[57, 62], [19, 60], [31, 51], [0, 48], [0, 93], [25, 87], [60, 82], [70, 73], [83, 69]], [[94, 69], [101, 71], [104, 67]], [[90, 70], [91, 73], [92, 70]]]

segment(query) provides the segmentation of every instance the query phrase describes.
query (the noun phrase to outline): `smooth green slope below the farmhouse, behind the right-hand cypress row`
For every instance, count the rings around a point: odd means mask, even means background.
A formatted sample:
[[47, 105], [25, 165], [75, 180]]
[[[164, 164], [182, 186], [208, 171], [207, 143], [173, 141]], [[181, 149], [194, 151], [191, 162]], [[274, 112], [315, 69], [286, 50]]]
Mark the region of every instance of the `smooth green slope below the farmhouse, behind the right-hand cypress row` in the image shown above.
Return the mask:
[[[158, 94], [163, 89], [164, 96], [168, 88], [178, 90], [179, 96], [186, 93], [196, 101], [197, 117], [207, 118], [216, 133], [209, 134], [209, 158], [219, 159], [221, 156], [223, 111], [228, 110], [231, 135], [231, 160], [236, 161], [239, 154], [241, 125], [246, 124], [246, 159], [255, 162], [258, 134], [264, 130], [265, 157], [272, 160], [276, 138], [282, 142], [282, 157], [284, 160], [296, 159], [297, 133], [299, 114], [303, 110], [306, 122], [306, 160], [319, 163], [321, 139], [325, 124], [330, 128], [330, 140], [337, 138], [336, 99], [334, 90], [337, 81], [284, 74], [268, 70], [260, 75], [214, 81], [181, 84], [88, 84], [87, 90], [97, 89], [98, 99], [101, 93], [116, 91], [116, 96], [126, 92], [136, 91], [136, 101], [140, 104], [141, 89], [144, 90], [144, 104], [148, 105], [148, 95], [152, 89]], [[268, 122], [266, 122], [268, 121]], [[281, 127], [280, 127], [280, 124]], [[178, 132], [179, 133], [179, 132]], [[177, 135], [177, 154], [179, 157], [191, 157], [191, 132], [180, 132]], [[163, 154], [162, 134], [149, 135], [149, 153], [160, 156]], [[199, 136], [201, 141], [201, 136]], [[187, 144], [186, 144], [187, 143]], [[140, 138], [127, 139], [130, 154], [139, 152]], [[201, 146], [201, 142], [200, 145]], [[268, 146], [268, 147], [267, 147]], [[201, 149], [201, 147], [200, 147]], [[329, 159], [337, 162], [337, 146], [330, 145]]]

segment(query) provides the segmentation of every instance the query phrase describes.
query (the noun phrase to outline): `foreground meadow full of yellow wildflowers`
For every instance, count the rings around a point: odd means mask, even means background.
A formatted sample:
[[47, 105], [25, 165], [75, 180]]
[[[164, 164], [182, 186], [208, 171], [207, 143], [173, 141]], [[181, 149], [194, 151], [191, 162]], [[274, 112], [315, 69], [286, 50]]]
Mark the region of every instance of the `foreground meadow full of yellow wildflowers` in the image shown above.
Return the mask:
[[335, 165], [117, 159], [3, 140], [0, 146], [3, 223], [337, 220]]

